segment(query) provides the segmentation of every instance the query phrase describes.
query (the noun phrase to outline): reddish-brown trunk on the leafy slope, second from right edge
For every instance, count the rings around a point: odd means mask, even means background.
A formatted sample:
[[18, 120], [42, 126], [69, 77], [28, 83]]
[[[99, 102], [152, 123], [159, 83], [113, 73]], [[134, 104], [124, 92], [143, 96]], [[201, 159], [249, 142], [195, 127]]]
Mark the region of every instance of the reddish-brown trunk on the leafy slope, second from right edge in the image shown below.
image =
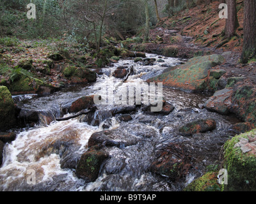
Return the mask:
[[232, 38], [236, 34], [236, 29], [239, 27], [236, 12], [236, 0], [226, 0], [228, 6], [228, 18], [225, 25], [226, 38]]

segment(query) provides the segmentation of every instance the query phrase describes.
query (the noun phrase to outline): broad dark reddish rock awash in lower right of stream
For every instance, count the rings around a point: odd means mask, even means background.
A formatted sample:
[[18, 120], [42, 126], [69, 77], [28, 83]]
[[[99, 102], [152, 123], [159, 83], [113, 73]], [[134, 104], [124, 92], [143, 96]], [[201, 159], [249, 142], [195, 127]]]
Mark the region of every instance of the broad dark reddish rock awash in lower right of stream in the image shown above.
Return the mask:
[[184, 177], [191, 166], [190, 158], [185, 154], [183, 145], [170, 144], [163, 150], [157, 152], [157, 157], [150, 165], [149, 170], [157, 175], [168, 177], [172, 181], [177, 181]]

